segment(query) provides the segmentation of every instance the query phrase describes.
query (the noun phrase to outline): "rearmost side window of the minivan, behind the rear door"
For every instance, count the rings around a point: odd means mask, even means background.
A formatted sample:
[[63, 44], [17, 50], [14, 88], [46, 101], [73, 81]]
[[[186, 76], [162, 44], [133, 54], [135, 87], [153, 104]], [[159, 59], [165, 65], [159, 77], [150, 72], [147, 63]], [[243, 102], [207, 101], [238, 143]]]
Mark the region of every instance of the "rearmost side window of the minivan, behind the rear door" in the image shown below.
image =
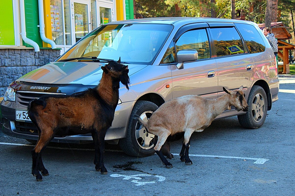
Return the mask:
[[235, 23], [235, 26], [240, 31], [250, 53], [265, 51], [264, 41], [254, 26], [240, 23]]

